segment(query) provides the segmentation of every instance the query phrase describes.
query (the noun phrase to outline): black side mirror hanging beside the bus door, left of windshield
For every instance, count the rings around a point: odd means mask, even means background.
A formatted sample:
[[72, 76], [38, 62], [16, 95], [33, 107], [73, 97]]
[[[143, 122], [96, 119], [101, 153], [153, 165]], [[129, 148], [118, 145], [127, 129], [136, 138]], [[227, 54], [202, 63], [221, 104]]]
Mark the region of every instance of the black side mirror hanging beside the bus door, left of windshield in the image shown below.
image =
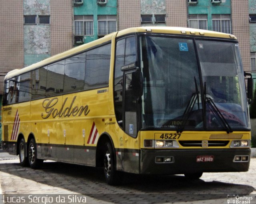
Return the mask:
[[143, 78], [139, 69], [137, 69], [135, 72], [132, 72], [132, 90], [134, 96], [137, 98], [143, 94]]

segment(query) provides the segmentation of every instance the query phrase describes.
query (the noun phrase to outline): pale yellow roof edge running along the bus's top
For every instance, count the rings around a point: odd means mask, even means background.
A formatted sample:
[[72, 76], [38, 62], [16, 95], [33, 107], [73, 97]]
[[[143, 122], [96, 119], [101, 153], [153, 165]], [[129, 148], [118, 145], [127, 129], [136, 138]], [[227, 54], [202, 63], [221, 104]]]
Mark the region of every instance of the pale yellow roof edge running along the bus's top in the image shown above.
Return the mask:
[[167, 26], [154, 26], [154, 27], [135, 27], [135, 28], [127, 28], [118, 32], [113, 32], [111, 34], [108, 34], [104, 36], [103, 38], [100, 38], [98, 40], [94, 40], [92, 42], [77, 46], [75, 48], [72, 48], [70, 50], [67, 50], [65, 52], [62, 52], [60, 54], [56, 54], [54, 56], [51, 56], [49, 58], [46, 58], [40, 62], [37, 62], [35, 64], [32, 64], [30, 66], [27, 66], [22, 69], [16, 69], [8, 72], [5, 76], [5, 80], [12, 78], [14, 76], [18, 76], [22, 73], [29, 72], [31, 70], [35, 70], [37, 68], [46, 66], [47, 64], [57, 62], [59, 60], [62, 60], [64, 58], [67, 58], [69, 56], [72, 56], [76, 53], [82, 52], [84, 50], [87, 50], [89, 48], [92, 48], [94, 46], [103, 44], [105, 42], [109, 42], [113, 36], [120, 37], [124, 36], [130, 33], [136, 33], [136, 32], [151, 32], [151, 33], [166, 33], [166, 34], [179, 34], [179, 35], [193, 35], [193, 36], [206, 36], [206, 37], [216, 37], [216, 38], [228, 38], [228, 39], [235, 39], [236, 37], [231, 34], [221, 33], [221, 32], [214, 32], [210, 30], [200, 30], [200, 29], [193, 29], [193, 28], [182, 28], [182, 27], [167, 27]]

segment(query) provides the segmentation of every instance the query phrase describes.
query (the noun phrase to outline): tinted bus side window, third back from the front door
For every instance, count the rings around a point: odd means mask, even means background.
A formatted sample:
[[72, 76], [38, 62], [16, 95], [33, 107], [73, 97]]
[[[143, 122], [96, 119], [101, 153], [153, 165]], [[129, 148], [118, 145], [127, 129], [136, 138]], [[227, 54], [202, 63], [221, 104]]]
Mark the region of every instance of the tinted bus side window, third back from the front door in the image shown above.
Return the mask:
[[65, 61], [50, 64], [47, 67], [46, 96], [63, 93]]

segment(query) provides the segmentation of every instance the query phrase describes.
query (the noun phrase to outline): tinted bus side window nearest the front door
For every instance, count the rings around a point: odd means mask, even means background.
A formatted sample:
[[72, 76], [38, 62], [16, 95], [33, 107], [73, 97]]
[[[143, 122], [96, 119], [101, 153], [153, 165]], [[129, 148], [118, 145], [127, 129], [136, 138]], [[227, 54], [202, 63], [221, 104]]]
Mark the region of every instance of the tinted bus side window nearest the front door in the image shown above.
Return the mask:
[[111, 44], [86, 52], [85, 90], [108, 86]]

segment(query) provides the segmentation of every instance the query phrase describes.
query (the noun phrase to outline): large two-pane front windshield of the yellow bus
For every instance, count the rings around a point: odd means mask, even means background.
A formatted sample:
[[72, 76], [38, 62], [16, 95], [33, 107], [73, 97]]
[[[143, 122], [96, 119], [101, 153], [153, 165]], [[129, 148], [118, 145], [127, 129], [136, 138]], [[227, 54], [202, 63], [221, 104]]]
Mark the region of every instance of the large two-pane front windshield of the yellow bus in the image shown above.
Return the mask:
[[167, 36], [140, 36], [139, 42], [142, 128], [250, 128], [237, 43]]

